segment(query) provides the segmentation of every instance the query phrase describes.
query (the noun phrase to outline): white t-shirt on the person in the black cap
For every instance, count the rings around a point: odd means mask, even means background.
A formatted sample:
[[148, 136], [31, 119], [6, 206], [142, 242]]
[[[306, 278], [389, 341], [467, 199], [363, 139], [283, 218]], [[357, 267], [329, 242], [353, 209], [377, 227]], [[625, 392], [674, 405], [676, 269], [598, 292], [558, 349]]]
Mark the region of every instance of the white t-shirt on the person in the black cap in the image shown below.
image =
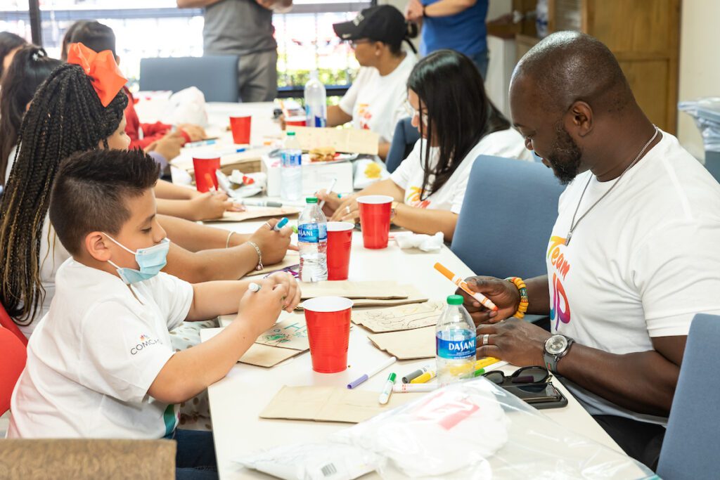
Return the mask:
[[362, 67], [352, 86], [340, 101], [340, 109], [353, 117], [353, 127], [372, 130], [382, 140], [392, 142], [395, 125], [408, 117], [408, 77], [418, 58], [405, 52], [405, 58], [395, 70], [381, 76], [377, 68]]

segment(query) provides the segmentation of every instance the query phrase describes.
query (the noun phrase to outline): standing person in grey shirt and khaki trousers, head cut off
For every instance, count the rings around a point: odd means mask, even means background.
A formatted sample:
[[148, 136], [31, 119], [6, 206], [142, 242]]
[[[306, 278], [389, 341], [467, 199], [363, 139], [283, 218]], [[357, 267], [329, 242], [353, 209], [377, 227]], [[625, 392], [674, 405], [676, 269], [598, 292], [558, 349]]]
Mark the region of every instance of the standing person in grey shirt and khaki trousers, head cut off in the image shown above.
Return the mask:
[[274, 11], [292, 0], [177, 0], [179, 8], [204, 7], [204, 55], [238, 55], [241, 101], [272, 101], [277, 94]]

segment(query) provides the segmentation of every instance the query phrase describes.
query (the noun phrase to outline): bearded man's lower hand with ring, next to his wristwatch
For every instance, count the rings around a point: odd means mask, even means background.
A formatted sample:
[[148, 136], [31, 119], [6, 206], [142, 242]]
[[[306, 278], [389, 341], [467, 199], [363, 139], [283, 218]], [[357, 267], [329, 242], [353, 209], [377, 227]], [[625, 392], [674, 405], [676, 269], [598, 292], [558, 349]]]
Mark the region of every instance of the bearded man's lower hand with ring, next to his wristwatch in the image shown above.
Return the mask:
[[[509, 283], [509, 282], [508, 282]], [[487, 345], [482, 345], [487, 335]], [[477, 327], [477, 358], [495, 357], [523, 366], [544, 366], [543, 352], [550, 332], [516, 317]]]

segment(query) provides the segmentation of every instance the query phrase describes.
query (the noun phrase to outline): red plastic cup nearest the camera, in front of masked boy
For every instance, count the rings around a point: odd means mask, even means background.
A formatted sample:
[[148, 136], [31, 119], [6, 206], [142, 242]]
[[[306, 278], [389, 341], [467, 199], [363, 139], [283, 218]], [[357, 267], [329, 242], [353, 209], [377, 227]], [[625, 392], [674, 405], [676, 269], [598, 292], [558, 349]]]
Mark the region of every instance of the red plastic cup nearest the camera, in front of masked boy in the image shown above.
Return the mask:
[[314, 371], [337, 373], [348, 368], [352, 307], [353, 301], [342, 296], [318, 296], [302, 302]]

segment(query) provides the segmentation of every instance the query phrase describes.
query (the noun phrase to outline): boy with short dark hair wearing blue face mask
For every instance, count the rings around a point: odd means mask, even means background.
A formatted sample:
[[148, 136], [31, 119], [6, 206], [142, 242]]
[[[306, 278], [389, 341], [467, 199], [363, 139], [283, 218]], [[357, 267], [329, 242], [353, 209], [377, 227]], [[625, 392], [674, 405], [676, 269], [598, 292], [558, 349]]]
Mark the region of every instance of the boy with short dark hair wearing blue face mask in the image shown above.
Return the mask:
[[[27, 345], [10, 438], [176, 438], [178, 466], [192, 448], [202, 460], [190, 467], [212, 468], [212, 435], [176, 431], [178, 404], [222, 379], [282, 309], [297, 306], [300, 290], [288, 273], [255, 292], [248, 281], [189, 284], [161, 273], [169, 243], [156, 221], [157, 178], [140, 150], [91, 150], [60, 167], [50, 221], [72, 258]], [[207, 343], [171, 348], [179, 322], [238, 309]]]

